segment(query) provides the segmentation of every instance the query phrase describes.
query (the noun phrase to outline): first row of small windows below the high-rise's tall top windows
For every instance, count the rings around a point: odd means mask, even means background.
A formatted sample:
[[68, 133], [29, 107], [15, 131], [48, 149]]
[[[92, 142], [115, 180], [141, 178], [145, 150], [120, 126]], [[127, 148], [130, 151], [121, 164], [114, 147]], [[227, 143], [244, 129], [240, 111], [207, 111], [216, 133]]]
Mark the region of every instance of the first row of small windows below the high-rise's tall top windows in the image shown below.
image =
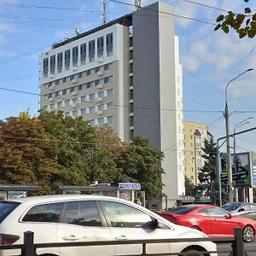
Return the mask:
[[50, 88], [51, 86], [58, 85], [58, 84], [64, 84], [64, 83], [67, 83], [69, 81], [73, 81], [75, 79], [82, 79], [82, 78], [85, 78], [85, 77], [90, 76], [90, 75], [95, 74], [95, 73], [98, 73], [98, 75], [102, 75], [102, 72], [104, 70], [108, 70], [108, 69], [111, 69], [111, 68], [113, 68], [113, 62], [110, 62], [110, 63], [102, 65], [102, 66], [90, 68], [90, 69], [87, 69], [83, 72], [75, 73], [71, 76], [67, 76], [67, 77], [62, 78], [62, 79], [56, 79], [55, 81], [51, 81], [49, 83], [42, 84], [42, 88], [47, 89], [47, 88]]

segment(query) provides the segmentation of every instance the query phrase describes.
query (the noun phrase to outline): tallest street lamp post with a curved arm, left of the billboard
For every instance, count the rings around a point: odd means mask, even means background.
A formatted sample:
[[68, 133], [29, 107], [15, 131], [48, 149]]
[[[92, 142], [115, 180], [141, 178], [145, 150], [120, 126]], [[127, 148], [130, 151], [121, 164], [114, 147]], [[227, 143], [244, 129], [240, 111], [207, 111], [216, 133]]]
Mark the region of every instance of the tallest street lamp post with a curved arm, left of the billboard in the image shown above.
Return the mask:
[[225, 128], [226, 128], [227, 172], [228, 172], [228, 188], [229, 188], [230, 202], [233, 201], [234, 195], [233, 195], [233, 180], [232, 180], [232, 166], [231, 166], [231, 153], [230, 153], [230, 112], [228, 107], [227, 90], [231, 82], [241, 77], [241, 75], [243, 75], [244, 73], [247, 73], [248, 71], [252, 71], [252, 70], [253, 68], [248, 68], [246, 71], [236, 76], [236, 78], [231, 79], [230, 82], [225, 87], [224, 119], [225, 119]]

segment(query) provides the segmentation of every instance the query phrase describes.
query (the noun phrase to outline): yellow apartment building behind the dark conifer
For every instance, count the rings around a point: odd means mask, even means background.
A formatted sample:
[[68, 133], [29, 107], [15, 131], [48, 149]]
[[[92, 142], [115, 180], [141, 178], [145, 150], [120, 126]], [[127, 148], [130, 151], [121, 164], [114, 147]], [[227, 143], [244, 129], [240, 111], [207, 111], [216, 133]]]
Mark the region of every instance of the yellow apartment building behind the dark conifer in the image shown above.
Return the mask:
[[197, 185], [198, 172], [201, 167], [204, 166], [205, 160], [202, 158], [204, 154], [202, 148], [204, 148], [204, 141], [210, 140], [212, 134], [208, 131], [207, 125], [201, 125], [191, 122], [183, 122], [184, 129], [184, 156], [185, 156], [185, 176], [190, 181]]

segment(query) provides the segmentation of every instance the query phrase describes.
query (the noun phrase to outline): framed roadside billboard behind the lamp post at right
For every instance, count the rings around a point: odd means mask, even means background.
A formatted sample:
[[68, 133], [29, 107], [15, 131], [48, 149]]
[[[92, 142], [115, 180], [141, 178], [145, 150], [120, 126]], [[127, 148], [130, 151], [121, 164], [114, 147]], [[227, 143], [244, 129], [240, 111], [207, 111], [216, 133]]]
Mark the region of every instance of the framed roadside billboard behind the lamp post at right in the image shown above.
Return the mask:
[[[251, 188], [253, 186], [252, 156], [249, 152], [231, 154], [233, 186], [236, 188]], [[227, 185], [227, 160], [225, 156], [221, 161], [221, 184]]]

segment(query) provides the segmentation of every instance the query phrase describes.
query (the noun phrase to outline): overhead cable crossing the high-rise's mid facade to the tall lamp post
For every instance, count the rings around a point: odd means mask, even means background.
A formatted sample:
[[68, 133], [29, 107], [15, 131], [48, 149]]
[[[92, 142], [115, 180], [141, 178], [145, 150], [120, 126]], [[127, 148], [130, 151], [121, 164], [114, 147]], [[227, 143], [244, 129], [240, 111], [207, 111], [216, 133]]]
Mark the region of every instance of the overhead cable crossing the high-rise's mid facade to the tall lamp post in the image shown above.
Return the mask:
[[[11, 91], [11, 92], [16, 92], [16, 93], [23, 93], [23, 94], [28, 94], [28, 95], [32, 95], [32, 96], [43, 96], [41, 94], [35, 93], [35, 92], [29, 92], [29, 91], [25, 91], [25, 90], [15, 90], [15, 89], [9, 89], [9, 88], [3, 88], [0, 87], [0, 90], [7, 90], [7, 91]], [[64, 98], [64, 97], [60, 97], [60, 96], [56, 96], [55, 98], [61, 99], [61, 100], [72, 100], [70, 98]], [[76, 102], [76, 103], [84, 103], [84, 102]], [[90, 102], [88, 102], [90, 103]], [[124, 107], [124, 108], [131, 108], [131, 106], [127, 106], [127, 105], [121, 105], [121, 104], [113, 104], [113, 106], [116, 107]], [[188, 113], [223, 113], [222, 110], [191, 110], [191, 109], [168, 109], [168, 108], [145, 108], [145, 107], [134, 107], [133, 108], [137, 108], [137, 109], [144, 109], [144, 110], [157, 110], [157, 111], [181, 111], [181, 112], [188, 112]]]

